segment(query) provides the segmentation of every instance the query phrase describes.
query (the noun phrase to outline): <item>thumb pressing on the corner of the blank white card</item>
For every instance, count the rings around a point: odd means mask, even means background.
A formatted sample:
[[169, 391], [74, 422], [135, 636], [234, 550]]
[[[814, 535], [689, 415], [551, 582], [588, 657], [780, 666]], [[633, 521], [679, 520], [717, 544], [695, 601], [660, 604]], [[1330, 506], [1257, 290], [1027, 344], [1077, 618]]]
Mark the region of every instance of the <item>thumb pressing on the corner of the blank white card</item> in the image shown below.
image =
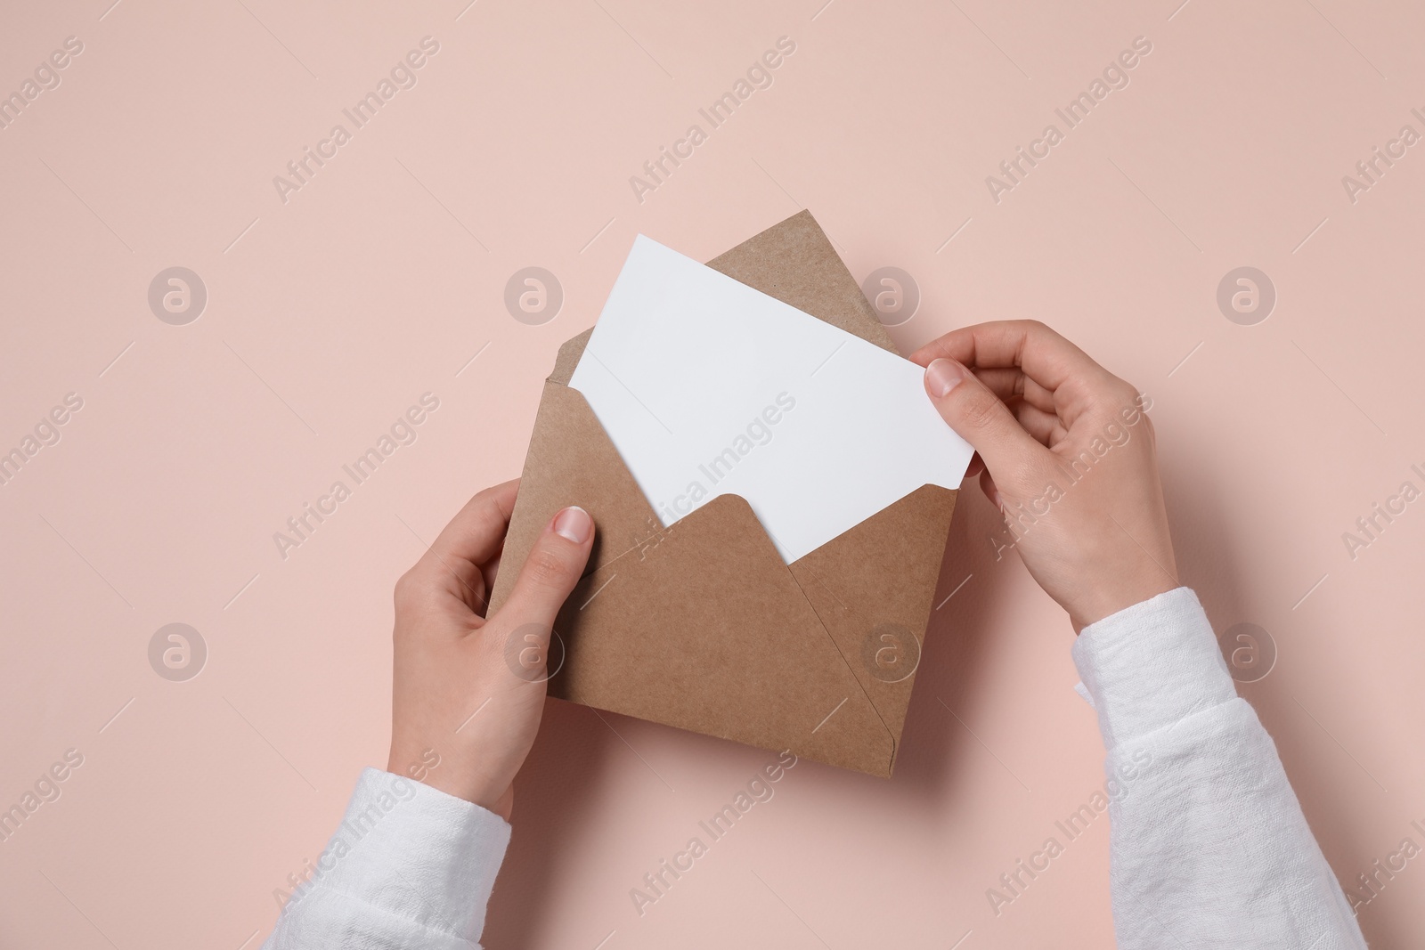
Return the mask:
[[963, 365], [943, 357], [931, 360], [925, 367], [925, 392], [940, 419], [975, 447], [992, 477], [1013, 479], [1039, 461], [1045, 447]]

